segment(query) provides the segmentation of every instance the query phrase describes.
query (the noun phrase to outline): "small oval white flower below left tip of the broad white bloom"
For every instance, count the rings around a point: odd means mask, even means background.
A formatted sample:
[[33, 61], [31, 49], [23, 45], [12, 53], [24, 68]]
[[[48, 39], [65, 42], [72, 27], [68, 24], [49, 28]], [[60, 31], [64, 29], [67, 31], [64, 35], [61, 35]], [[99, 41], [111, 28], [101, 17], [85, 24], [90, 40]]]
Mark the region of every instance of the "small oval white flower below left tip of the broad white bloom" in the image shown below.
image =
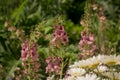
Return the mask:
[[69, 69], [67, 73], [72, 76], [81, 76], [81, 75], [85, 74], [86, 71], [81, 68], [72, 68], [72, 69]]

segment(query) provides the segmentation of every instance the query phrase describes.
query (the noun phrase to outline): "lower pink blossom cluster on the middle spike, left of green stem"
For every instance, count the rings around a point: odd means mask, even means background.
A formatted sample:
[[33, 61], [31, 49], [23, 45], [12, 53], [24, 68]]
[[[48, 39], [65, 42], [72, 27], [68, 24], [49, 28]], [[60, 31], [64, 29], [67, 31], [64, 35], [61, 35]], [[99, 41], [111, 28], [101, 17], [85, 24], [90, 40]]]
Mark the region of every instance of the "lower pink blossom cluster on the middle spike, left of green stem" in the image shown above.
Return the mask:
[[56, 74], [59, 74], [60, 72], [60, 64], [62, 62], [62, 59], [60, 57], [48, 57], [46, 59], [47, 67], [46, 67], [46, 73], [52, 73], [55, 72]]

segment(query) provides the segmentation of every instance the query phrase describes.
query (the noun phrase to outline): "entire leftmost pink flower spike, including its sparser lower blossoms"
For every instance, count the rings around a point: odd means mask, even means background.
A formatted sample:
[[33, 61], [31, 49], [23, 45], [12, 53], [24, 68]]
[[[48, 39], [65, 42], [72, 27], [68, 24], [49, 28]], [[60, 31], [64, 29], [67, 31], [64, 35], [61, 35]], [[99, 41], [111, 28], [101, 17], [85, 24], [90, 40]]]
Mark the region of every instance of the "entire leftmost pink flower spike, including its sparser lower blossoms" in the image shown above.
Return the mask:
[[28, 67], [28, 65], [30, 65], [30, 70], [28, 68], [23, 69], [23, 76], [30, 75], [31, 78], [37, 79], [39, 77], [37, 72], [41, 66], [37, 52], [38, 45], [32, 40], [26, 40], [21, 44], [21, 47], [22, 66]]

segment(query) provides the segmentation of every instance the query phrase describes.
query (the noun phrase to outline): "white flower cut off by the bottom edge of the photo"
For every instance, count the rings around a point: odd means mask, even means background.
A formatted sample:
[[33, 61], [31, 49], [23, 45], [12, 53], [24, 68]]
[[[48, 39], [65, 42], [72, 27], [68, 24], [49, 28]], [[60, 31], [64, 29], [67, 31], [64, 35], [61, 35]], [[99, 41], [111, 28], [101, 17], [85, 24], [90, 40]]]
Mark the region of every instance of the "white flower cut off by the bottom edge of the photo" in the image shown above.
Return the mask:
[[85, 76], [79, 76], [76, 80], [100, 80], [96, 74], [86, 74]]

